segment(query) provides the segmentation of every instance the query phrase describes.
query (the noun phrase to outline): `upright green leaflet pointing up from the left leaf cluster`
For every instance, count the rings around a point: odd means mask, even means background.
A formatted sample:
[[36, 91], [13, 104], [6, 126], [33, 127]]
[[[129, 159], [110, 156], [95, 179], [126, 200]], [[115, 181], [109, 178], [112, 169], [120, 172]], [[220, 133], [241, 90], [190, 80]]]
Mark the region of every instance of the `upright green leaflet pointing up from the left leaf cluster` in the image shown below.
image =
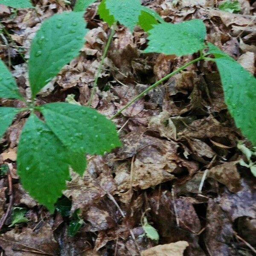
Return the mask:
[[29, 59], [32, 98], [79, 54], [87, 32], [83, 15], [83, 12], [55, 14], [36, 33]]

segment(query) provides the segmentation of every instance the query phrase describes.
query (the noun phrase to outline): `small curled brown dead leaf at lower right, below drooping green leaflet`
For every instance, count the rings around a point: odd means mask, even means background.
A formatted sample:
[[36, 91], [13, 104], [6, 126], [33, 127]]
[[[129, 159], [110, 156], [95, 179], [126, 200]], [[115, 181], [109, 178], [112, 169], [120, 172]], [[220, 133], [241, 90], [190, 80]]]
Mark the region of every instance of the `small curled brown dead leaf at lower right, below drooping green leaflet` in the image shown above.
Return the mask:
[[213, 178], [219, 183], [224, 184], [231, 192], [241, 190], [241, 177], [237, 171], [238, 161], [222, 163], [214, 166], [207, 172], [207, 178]]

